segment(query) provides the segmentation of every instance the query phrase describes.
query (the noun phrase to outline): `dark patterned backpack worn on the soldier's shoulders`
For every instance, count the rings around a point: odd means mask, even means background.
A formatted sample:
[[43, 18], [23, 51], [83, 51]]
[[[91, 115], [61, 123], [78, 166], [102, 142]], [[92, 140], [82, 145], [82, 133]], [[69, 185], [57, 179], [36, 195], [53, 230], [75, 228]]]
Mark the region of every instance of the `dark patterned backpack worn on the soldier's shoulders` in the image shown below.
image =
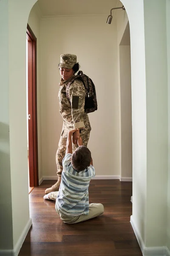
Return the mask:
[[77, 73], [77, 76], [74, 76], [73, 79], [71, 79], [67, 86], [66, 86], [66, 97], [70, 102], [70, 97], [69, 97], [69, 87], [70, 85], [74, 82], [75, 79], [78, 79], [82, 81], [85, 87], [85, 112], [86, 113], [91, 113], [97, 110], [97, 98], [96, 98], [96, 90], [95, 90], [95, 85], [93, 81], [86, 76], [85, 74], [82, 73], [82, 71], [79, 71]]

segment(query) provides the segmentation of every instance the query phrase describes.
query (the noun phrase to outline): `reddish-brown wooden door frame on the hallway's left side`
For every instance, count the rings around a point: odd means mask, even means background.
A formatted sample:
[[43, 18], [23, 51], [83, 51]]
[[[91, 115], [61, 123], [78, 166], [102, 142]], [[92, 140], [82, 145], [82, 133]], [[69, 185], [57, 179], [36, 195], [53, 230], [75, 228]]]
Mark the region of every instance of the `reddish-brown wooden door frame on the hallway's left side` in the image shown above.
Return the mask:
[[[37, 38], [27, 24], [28, 39], [28, 154], [30, 187], [39, 186], [37, 136]], [[27, 116], [28, 118], [28, 116]]]

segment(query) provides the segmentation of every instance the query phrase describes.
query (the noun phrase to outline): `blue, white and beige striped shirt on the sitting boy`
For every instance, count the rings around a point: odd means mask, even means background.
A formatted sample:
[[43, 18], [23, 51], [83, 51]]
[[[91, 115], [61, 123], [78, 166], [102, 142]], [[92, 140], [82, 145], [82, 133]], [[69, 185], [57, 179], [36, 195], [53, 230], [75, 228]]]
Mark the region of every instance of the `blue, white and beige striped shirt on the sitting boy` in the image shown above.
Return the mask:
[[71, 165], [71, 154], [62, 160], [62, 178], [56, 199], [57, 210], [67, 216], [78, 216], [89, 213], [88, 187], [95, 176], [92, 165], [84, 171], [77, 172]]

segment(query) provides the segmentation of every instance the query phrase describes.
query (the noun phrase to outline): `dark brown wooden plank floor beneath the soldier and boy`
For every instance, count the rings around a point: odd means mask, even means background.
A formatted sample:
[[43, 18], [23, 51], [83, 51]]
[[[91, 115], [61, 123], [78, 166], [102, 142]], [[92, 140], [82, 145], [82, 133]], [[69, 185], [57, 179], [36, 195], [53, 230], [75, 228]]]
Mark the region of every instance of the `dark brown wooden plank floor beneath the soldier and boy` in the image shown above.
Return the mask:
[[91, 180], [90, 203], [102, 203], [103, 215], [77, 224], [65, 224], [54, 201], [43, 200], [54, 180], [44, 180], [30, 193], [33, 225], [19, 256], [142, 256], [130, 224], [132, 183]]

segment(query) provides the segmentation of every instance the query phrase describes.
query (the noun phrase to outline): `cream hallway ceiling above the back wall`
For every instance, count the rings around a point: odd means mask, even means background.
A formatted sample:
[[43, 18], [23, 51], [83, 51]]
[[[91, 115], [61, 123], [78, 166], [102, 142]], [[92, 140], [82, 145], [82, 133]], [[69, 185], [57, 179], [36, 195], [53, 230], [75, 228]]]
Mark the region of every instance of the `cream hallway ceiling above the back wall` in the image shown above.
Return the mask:
[[109, 15], [119, 0], [38, 0], [42, 16], [57, 15]]

